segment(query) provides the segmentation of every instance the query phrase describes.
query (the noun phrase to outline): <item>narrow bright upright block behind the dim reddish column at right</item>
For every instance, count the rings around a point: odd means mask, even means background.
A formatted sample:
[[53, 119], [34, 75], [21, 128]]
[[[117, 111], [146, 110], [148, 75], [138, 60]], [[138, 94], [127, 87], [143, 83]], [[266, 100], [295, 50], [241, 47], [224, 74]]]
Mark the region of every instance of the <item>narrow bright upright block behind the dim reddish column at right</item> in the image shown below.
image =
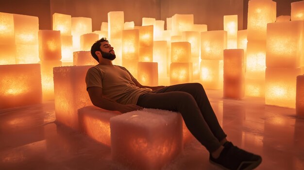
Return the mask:
[[227, 48], [237, 46], [237, 15], [224, 15], [224, 31], [227, 31]]

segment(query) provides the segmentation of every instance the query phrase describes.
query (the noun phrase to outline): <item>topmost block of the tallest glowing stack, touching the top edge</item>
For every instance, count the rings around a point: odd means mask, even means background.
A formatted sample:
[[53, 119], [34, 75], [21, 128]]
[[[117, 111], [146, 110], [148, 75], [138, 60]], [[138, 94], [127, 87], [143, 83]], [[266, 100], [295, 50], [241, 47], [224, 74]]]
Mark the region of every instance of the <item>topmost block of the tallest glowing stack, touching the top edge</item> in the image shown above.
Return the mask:
[[248, 41], [266, 40], [267, 24], [275, 22], [276, 2], [272, 0], [249, 0]]

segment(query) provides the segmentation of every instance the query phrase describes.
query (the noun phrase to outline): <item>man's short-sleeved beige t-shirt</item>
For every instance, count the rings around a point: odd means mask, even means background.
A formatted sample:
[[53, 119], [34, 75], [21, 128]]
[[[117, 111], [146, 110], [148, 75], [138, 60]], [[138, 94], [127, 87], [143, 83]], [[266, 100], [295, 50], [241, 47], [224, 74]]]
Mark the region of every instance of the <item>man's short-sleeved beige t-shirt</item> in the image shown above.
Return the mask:
[[85, 77], [86, 89], [100, 87], [104, 98], [124, 105], [136, 104], [141, 94], [152, 91], [137, 87], [135, 81], [126, 68], [118, 65], [98, 64], [89, 68]]

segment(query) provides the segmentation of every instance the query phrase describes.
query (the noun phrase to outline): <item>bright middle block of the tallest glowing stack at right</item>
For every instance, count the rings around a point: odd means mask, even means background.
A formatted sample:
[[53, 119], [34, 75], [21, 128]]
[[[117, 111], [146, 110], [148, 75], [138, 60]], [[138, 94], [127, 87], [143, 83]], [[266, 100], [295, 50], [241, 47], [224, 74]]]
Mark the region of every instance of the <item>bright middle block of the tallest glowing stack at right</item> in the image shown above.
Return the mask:
[[265, 79], [266, 42], [248, 41], [246, 55], [246, 76]]

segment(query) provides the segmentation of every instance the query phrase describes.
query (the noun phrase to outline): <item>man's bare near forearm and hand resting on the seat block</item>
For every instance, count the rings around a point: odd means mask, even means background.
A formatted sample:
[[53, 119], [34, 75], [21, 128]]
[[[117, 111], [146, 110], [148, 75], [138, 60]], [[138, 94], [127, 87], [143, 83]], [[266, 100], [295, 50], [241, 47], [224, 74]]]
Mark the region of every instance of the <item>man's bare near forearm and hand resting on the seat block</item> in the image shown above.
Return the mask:
[[142, 109], [137, 105], [122, 105], [117, 102], [108, 100], [102, 97], [102, 89], [100, 87], [89, 87], [87, 89], [91, 102], [94, 106], [103, 108], [106, 110], [118, 110], [121, 113], [126, 113], [134, 110]]

